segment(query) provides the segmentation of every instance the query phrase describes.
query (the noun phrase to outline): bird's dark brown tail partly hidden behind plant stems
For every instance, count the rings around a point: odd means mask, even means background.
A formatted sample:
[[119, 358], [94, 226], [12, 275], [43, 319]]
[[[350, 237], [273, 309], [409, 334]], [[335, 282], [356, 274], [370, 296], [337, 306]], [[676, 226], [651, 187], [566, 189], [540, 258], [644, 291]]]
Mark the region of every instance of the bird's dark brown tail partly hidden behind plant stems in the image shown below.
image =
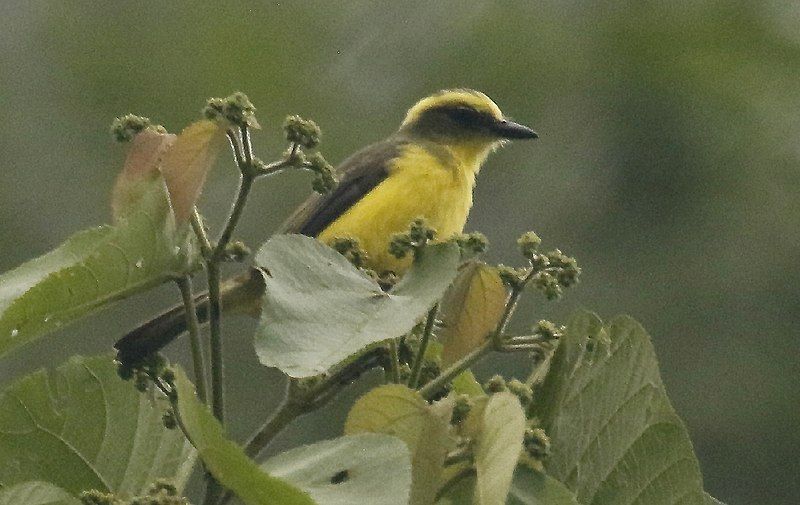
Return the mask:
[[[261, 313], [261, 295], [264, 293], [264, 278], [258, 270], [234, 277], [220, 286], [222, 310], [227, 314], [246, 314], [258, 317]], [[208, 293], [194, 299], [197, 319], [208, 322]], [[123, 364], [140, 363], [145, 357], [156, 353], [186, 331], [186, 310], [177, 305], [150, 319], [119, 339], [114, 348], [117, 360]]]

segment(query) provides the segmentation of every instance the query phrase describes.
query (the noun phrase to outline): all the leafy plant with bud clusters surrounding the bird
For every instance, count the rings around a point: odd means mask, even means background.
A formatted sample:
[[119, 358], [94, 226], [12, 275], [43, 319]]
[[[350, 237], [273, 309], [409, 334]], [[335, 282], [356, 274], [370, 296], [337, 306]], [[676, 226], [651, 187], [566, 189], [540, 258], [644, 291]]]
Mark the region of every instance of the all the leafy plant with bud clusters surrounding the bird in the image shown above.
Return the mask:
[[[73, 358], [52, 378], [24, 377], [0, 396], [0, 503], [185, 503], [195, 451], [206, 505], [234, 496], [247, 505], [718, 503], [703, 491], [641, 326], [578, 312], [566, 326], [542, 320], [509, 332], [526, 290], [559, 298], [581, 273], [560, 250], [541, 251], [533, 232], [518, 240], [523, 266], [488, 265], [474, 259], [486, 249], [482, 235], [437, 241], [416, 220], [390, 242], [392, 254], [413, 255], [399, 280], [365, 270], [353, 241], [331, 248], [278, 235], [247, 275], [222, 283], [221, 264], [247, 255], [232, 236], [256, 179], [304, 169], [323, 193], [336, 181], [318, 152], [306, 153], [319, 144], [316, 123], [290, 116], [287, 150], [265, 163], [254, 155], [259, 123], [244, 94], [211, 99], [204, 114], [178, 136], [138, 116], [115, 121], [114, 135], [131, 142], [112, 194], [115, 222], [2, 276], [0, 352], [175, 280], [189, 312], [177, 327], [189, 330], [195, 379], [211, 377], [209, 405], [158, 354], [180, 333], [168, 333], [175, 311], [153, 326], [158, 345], [146, 356], [117, 356], [118, 375], [97, 357]], [[212, 240], [196, 205], [224, 136], [240, 185]], [[200, 263], [209, 293], [195, 297], [188, 279]], [[288, 380], [283, 403], [243, 446], [224, 427], [223, 300], [233, 309], [260, 302], [255, 351]], [[210, 370], [201, 317], [210, 322]], [[481, 386], [471, 367], [490, 353], [529, 356], [530, 375]], [[255, 461], [294, 419], [375, 368], [389, 384], [355, 402], [345, 436]]]

